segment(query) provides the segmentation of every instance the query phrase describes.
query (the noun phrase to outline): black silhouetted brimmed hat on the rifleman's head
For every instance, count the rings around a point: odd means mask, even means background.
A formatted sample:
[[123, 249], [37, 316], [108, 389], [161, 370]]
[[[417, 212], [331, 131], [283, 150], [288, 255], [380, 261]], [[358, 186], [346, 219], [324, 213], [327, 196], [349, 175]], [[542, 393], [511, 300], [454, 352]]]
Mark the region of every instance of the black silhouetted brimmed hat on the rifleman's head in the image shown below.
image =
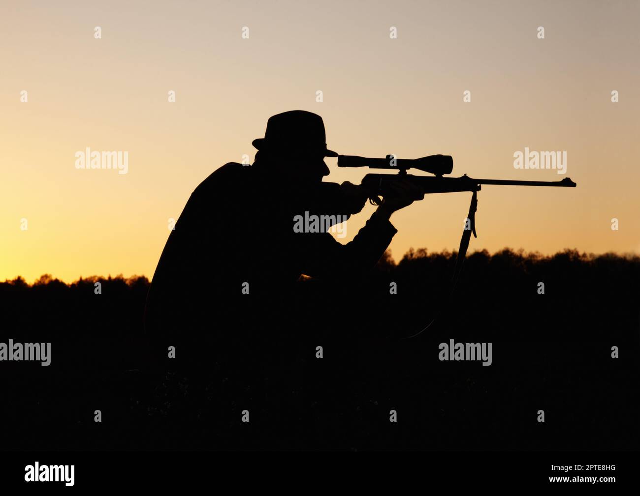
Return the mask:
[[254, 139], [258, 150], [276, 153], [317, 153], [323, 157], [337, 157], [327, 150], [324, 122], [313, 112], [292, 110], [269, 117], [264, 138]]

